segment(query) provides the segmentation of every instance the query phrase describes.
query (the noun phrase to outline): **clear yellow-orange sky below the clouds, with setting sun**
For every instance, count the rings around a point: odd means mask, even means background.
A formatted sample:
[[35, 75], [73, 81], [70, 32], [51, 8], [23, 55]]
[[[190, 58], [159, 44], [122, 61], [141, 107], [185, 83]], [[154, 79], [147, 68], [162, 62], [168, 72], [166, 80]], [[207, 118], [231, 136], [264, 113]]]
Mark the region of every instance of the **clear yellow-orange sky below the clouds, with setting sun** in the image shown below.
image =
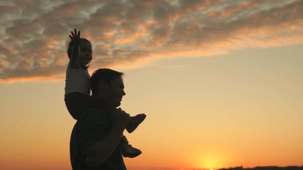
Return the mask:
[[[121, 107], [148, 115], [136, 132], [126, 132], [143, 151], [125, 159], [127, 167], [301, 166], [301, 47], [162, 60], [121, 70], [127, 93]], [[63, 102], [64, 83], [0, 86], [5, 96], [0, 165], [8, 170], [70, 169], [75, 121]]]

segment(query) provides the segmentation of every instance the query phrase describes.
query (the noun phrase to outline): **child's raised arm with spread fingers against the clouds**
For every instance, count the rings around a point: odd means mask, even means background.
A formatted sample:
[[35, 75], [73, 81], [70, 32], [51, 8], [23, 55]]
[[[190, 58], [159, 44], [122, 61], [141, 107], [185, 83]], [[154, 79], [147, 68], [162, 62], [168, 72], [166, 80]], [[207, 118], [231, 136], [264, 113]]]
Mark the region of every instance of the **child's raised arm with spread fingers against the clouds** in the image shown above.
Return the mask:
[[71, 57], [69, 59], [69, 63], [68, 63], [68, 67], [73, 68], [73, 69], [78, 69], [80, 68], [80, 63], [79, 63], [79, 55], [80, 55], [80, 43], [81, 43], [81, 38], [80, 38], [80, 31], [78, 31], [77, 34], [77, 30], [75, 28], [75, 33], [73, 33], [73, 31], [71, 31], [72, 35], [69, 35], [73, 47], [72, 47], [72, 53], [71, 53]]

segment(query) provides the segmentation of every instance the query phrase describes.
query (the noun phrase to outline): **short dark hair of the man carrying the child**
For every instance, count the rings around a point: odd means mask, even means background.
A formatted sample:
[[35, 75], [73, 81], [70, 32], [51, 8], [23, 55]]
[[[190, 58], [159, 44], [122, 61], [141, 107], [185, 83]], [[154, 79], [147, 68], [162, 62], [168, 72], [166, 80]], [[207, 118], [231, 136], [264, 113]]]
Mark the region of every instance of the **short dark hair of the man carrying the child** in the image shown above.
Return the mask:
[[96, 70], [90, 79], [92, 94], [95, 94], [99, 91], [100, 81], [104, 81], [106, 84], [112, 85], [111, 81], [113, 79], [121, 77], [123, 74], [124, 73], [122, 72], [117, 72], [111, 69]]

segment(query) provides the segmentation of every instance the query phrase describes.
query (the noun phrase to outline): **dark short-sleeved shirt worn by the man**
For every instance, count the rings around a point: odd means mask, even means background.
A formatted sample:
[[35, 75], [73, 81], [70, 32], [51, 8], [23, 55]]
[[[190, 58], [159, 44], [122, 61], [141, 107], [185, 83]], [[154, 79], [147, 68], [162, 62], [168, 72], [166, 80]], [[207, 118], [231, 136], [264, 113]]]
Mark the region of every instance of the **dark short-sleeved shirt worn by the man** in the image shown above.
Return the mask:
[[76, 122], [70, 138], [70, 161], [73, 170], [126, 170], [120, 142], [111, 157], [98, 168], [90, 168], [85, 164], [87, 149], [104, 138], [113, 125], [110, 113], [100, 109], [87, 109], [84, 114]]

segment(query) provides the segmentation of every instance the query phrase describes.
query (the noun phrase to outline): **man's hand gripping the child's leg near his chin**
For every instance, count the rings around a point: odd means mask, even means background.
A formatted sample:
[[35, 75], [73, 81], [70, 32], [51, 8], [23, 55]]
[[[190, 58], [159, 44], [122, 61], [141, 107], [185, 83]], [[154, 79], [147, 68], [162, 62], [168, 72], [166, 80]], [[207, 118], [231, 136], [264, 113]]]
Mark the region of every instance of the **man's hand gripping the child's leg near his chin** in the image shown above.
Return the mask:
[[121, 108], [116, 109], [113, 111], [112, 120], [114, 122], [114, 126], [119, 128], [120, 130], [124, 130], [126, 125], [130, 120], [130, 114], [122, 110]]

